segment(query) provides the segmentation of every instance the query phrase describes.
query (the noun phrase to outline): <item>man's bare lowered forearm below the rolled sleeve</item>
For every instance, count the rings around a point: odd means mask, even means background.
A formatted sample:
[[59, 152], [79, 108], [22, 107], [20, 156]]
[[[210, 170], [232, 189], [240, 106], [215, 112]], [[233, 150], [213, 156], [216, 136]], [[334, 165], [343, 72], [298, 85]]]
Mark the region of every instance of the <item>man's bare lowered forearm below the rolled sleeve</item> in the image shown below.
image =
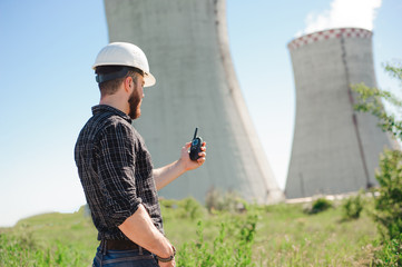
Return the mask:
[[[174, 254], [171, 244], [155, 227], [141, 204], [138, 205], [138, 209], [118, 227], [131, 241], [161, 258], [168, 258]], [[159, 266], [175, 266], [175, 261], [171, 260], [166, 264], [159, 263]]]

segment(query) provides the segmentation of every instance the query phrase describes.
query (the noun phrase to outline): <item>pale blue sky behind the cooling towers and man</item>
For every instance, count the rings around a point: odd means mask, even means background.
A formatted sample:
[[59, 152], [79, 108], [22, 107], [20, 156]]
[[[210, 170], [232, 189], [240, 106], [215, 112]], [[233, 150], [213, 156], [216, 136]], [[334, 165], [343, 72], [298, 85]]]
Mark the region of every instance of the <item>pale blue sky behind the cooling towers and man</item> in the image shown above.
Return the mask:
[[[382, 65], [402, 59], [402, 2], [342, 2], [227, 0], [233, 62], [281, 188], [295, 112], [286, 44], [297, 33], [320, 23], [336, 27], [335, 11], [341, 9], [342, 27], [373, 28], [379, 86], [401, 89]], [[0, 36], [0, 226], [39, 212], [75, 211], [85, 197], [72, 151], [90, 107], [99, 100], [90, 67], [108, 42], [104, 2], [2, 0]]]

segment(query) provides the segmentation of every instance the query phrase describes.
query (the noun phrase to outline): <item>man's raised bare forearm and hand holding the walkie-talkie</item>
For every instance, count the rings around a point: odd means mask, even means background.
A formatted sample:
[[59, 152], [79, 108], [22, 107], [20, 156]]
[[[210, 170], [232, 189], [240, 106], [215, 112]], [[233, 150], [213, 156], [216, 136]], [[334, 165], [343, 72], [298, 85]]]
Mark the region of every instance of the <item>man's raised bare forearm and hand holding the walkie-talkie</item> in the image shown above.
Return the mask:
[[187, 142], [182, 148], [180, 159], [171, 162], [165, 167], [154, 169], [154, 179], [156, 184], [156, 189], [160, 190], [171, 181], [174, 181], [177, 177], [183, 175], [184, 172], [196, 169], [205, 162], [206, 156], [206, 147], [205, 142], [202, 146], [202, 152], [199, 152], [200, 158], [197, 161], [193, 161], [188, 155], [188, 148], [192, 146], [192, 142]]

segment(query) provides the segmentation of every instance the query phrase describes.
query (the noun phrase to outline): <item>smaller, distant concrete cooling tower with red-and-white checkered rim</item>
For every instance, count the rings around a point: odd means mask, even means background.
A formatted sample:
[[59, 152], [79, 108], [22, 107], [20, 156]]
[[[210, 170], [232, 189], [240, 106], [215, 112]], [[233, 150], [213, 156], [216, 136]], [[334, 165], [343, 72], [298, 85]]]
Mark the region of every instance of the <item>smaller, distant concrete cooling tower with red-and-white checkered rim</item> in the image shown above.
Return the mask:
[[288, 43], [296, 121], [286, 197], [342, 194], [376, 185], [374, 169], [390, 139], [376, 117], [353, 109], [350, 85], [376, 87], [372, 32], [332, 29]]

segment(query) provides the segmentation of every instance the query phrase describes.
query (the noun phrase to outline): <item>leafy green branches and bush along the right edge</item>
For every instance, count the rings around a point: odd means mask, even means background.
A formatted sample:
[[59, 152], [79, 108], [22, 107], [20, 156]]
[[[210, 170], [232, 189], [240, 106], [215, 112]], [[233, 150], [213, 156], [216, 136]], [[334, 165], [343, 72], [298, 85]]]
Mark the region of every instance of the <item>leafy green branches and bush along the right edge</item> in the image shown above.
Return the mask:
[[[401, 66], [385, 66], [385, 71], [402, 82]], [[395, 117], [402, 115], [402, 101], [390, 91], [378, 88], [369, 88], [363, 83], [354, 86], [359, 95], [359, 103], [355, 109], [371, 112], [380, 119], [380, 126], [384, 131], [392, 134], [402, 141], [402, 121]], [[388, 113], [382, 101], [390, 103], [395, 110]], [[380, 171], [375, 178], [380, 184], [379, 194], [375, 198], [374, 219], [379, 222], [382, 234], [382, 249], [375, 254], [378, 266], [402, 266], [402, 152], [401, 150], [384, 150], [380, 160]]]

